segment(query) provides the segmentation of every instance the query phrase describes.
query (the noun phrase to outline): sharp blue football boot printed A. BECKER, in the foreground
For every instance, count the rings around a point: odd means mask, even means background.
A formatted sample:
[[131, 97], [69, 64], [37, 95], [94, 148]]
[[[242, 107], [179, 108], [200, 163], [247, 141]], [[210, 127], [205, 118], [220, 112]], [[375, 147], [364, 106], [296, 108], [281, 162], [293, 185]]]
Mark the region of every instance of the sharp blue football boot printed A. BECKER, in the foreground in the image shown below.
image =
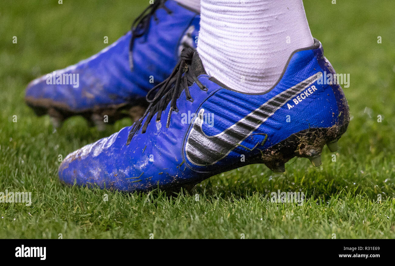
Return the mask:
[[315, 40], [293, 52], [270, 90], [241, 93], [207, 75], [198, 52], [185, 49], [169, 78], [148, 93], [144, 116], [69, 154], [60, 180], [173, 190], [248, 164], [284, 172], [295, 156], [319, 166], [324, 145], [335, 151], [349, 122], [347, 100], [337, 82], [327, 82], [330, 75], [335, 71]]

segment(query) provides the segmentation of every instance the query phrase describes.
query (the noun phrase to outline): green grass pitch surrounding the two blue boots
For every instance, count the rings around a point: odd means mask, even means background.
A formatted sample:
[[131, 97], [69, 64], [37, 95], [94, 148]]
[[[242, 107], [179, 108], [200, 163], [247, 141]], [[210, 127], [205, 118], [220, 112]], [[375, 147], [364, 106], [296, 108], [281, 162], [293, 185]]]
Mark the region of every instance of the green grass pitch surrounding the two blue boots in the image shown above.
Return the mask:
[[[395, 28], [391, 1], [304, 1], [314, 37], [338, 73], [352, 120], [336, 162], [292, 159], [286, 174], [235, 169], [188, 195], [125, 194], [65, 187], [58, 155], [110, 135], [81, 117], [54, 130], [24, 105], [26, 84], [98, 52], [125, 33], [148, 1], [6, 1], [0, 10], [0, 192], [32, 192], [32, 205], [0, 203], [0, 238], [394, 238]], [[17, 44], [12, 43], [17, 36]], [[377, 36], [382, 43], [377, 43]], [[13, 123], [17, 115], [17, 123]], [[382, 116], [382, 123], [377, 122]], [[271, 192], [304, 192], [303, 206]], [[108, 194], [108, 201], [103, 201]], [[199, 194], [199, 201], [196, 196]], [[382, 201], [377, 202], [377, 195]]]

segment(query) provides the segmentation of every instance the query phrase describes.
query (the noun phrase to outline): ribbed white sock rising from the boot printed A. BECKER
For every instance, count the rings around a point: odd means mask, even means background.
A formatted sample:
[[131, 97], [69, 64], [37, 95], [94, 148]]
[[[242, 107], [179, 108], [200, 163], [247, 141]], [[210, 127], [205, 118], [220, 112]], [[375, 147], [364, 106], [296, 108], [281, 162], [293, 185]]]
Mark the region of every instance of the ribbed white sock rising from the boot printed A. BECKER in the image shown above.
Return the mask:
[[207, 74], [244, 93], [270, 89], [292, 52], [314, 43], [302, 0], [201, 0], [200, 15]]

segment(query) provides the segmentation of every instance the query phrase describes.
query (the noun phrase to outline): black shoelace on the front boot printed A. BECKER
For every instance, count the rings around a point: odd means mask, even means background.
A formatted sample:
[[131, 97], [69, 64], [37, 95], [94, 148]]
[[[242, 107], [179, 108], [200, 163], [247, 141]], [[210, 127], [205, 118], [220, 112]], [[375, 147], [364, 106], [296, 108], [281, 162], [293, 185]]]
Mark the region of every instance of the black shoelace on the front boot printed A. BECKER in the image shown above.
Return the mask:
[[[198, 80], [198, 77], [195, 74], [196, 71], [191, 66], [194, 52], [195, 51], [192, 48], [184, 48], [181, 52], [180, 61], [175, 66], [170, 76], [148, 92], [146, 99], [150, 104], [143, 117], [134, 123], [132, 130], [129, 132], [126, 145], [129, 145], [134, 134], [141, 127], [141, 133], [145, 133], [147, 126], [155, 113], [157, 113], [156, 121], [160, 121], [162, 112], [166, 110], [167, 104], [170, 102], [170, 111], [167, 114], [166, 123], [166, 128], [168, 128], [170, 125], [171, 113], [173, 111], [178, 112], [177, 99], [180, 97], [182, 91], [185, 91], [187, 100], [191, 102], [194, 100], [190, 94], [188, 86], [191, 86], [196, 82], [201, 90], [207, 91], [207, 87]], [[152, 95], [154, 96], [151, 99]], [[147, 117], [147, 119], [143, 124], [145, 117]]]

